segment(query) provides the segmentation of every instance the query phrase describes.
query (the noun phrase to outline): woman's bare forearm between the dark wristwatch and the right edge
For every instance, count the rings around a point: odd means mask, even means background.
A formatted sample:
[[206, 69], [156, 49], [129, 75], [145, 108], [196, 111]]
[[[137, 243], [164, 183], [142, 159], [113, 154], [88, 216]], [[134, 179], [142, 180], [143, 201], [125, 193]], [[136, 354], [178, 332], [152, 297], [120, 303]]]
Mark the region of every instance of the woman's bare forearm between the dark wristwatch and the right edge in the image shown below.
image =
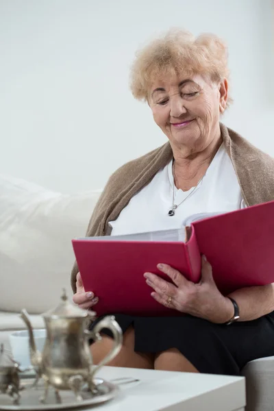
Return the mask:
[[251, 321], [274, 310], [274, 283], [267, 286], [240, 288], [229, 294], [239, 306], [239, 321]]

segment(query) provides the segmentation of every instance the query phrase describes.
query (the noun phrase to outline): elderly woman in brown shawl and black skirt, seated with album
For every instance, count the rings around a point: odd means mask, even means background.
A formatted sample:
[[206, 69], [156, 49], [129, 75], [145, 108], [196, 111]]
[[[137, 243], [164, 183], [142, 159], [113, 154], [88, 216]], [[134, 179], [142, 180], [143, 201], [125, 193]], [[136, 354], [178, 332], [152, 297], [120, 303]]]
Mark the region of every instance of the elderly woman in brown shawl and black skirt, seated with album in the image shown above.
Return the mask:
[[[274, 199], [274, 160], [220, 123], [231, 98], [227, 51], [219, 38], [168, 32], [138, 53], [131, 86], [169, 142], [110, 177], [88, 236], [177, 228], [190, 214]], [[184, 315], [114, 313], [124, 341], [111, 365], [237, 375], [250, 360], [274, 355], [272, 284], [222, 295], [206, 256], [199, 284], [161, 261], [158, 269], [173, 284], [144, 273], [151, 298]], [[85, 292], [76, 265], [72, 286], [80, 307], [96, 305], [98, 298]], [[95, 362], [111, 345], [107, 332], [91, 345]]]

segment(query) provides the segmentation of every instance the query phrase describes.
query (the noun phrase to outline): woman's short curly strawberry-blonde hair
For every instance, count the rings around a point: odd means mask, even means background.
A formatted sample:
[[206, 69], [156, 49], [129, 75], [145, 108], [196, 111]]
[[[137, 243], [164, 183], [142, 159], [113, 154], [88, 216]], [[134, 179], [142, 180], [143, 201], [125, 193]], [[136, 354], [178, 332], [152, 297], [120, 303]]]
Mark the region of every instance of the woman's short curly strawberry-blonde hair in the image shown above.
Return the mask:
[[[229, 79], [227, 47], [214, 34], [197, 38], [182, 29], [171, 29], [136, 53], [130, 73], [130, 88], [138, 100], [148, 99], [153, 79], [166, 75], [200, 74], [218, 83]], [[232, 99], [228, 95], [227, 103]]]

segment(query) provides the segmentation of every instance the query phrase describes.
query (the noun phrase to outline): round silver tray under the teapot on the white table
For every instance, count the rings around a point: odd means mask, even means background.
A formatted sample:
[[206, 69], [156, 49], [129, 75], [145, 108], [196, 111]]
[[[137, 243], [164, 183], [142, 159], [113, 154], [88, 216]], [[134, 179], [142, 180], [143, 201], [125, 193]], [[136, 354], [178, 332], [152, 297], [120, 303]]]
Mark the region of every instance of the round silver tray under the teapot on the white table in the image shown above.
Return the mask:
[[62, 403], [57, 403], [54, 390], [49, 388], [47, 403], [42, 404], [39, 399], [44, 391], [43, 385], [38, 384], [37, 388], [30, 388], [33, 382], [33, 379], [25, 379], [25, 381], [22, 382], [21, 385], [25, 387], [25, 390], [21, 391], [21, 399], [18, 406], [15, 406], [12, 403], [11, 397], [6, 394], [0, 394], [0, 410], [69, 410], [71, 408], [97, 406], [106, 401], [110, 401], [110, 399], [113, 399], [119, 393], [119, 388], [116, 385], [106, 382], [104, 379], [95, 378], [98, 393], [91, 394], [89, 390], [83, 390], [83, 401], [77, 401], [75, 395], [71, 391], [60, 391]]

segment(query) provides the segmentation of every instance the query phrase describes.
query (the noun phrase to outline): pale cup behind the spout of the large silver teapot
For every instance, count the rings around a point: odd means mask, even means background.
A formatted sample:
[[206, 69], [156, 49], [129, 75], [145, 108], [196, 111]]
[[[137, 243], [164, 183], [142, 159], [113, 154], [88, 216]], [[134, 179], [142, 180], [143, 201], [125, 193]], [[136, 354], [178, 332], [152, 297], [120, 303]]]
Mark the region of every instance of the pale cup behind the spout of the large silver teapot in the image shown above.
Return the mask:
[[[46, 329], [34, 329], [34, 340], [38, 351], [42, 352], [46, 340]], [[27, 330], [15, 331], [10, 334], [12, 356], [22, 369], [31, 366], [29, 358], [29, 332]]]

